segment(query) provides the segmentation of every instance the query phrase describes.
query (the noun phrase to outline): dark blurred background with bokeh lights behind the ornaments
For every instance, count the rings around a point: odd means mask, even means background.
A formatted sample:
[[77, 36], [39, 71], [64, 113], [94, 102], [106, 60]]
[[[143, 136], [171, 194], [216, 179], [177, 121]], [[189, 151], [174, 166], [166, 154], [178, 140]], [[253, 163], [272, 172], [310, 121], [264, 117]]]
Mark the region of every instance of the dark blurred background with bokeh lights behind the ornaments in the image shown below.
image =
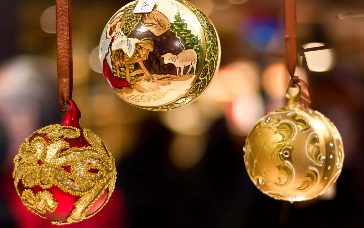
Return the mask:
[[[163, 113], [124, 103], [98, 61], [104, 26], [126, 0], [72, 1], [74, 95], [80, 125], [114, 154], [110, 202], [96, 216], [63, 227], [349, 227], [363, 224], [364, 18], [361, 0], [297, 0], [298, 45], [334, 47], [297, 55], [311, 108], [336, 124], [344, 142], [339, 181], [320, 198], [289, 204], [262, 194], [245, 171], [245, 135], [285, 105], [283, 0], [191, 0], [217, 28], [221, 67], [195, 103]], [[13, 157], [32, 132], [59, 123], [54, 0], [1, 1], [0, 224], [53, 227], [27, 211], [13, 189]], [[188, 118], [187, 118], [188, 117]], [[178, 121], [176, 121], [178, 120]]]

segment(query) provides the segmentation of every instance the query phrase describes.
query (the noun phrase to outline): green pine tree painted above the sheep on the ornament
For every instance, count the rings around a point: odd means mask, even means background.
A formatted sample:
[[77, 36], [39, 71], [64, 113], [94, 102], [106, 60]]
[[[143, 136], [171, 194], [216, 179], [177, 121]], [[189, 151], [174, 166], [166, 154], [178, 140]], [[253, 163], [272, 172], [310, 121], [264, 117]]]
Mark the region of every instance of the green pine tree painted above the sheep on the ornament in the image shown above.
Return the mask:
[[[185, 50], [193, 49], [197, 53], [197, 68], [202, 58], [202, 45], [201, 39], [198, 39], [198, 36], [191, 34], [191, 30], [187, 29], [187, 23], [185, 23], [185, 19], [181, 18], [181, 14], [179, 11], [177, 15], [174, 16], [174, 22], [171, 23], [171, 30], [174, 31], [177, 36], [181, 39], [181, 43], [185, 46]], [[198, 69], [196, 69], [197, 71]], [[193, 70], [191, 69], [191, 74]]]

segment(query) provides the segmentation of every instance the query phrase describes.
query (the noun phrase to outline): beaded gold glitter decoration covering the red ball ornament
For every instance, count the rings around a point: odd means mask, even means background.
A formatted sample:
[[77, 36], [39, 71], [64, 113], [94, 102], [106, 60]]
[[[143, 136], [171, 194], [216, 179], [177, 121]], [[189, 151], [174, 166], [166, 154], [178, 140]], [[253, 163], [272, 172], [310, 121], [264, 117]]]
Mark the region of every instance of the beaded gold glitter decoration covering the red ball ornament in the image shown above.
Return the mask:
[[[70, 148], [65, 139], [78, 139], [81, 134], [91, 146]], [[46, 136], [49, 142], [41, 136]], [[80, 130], [59, 124], [41, 128], [25, 139], [14, 163], [15, 187], [20, 180], [25, 187], [23, 192], [16, 188], [17, 192], [28, 209], [37, 215], [44, 217], [43, 214], [47, 210], [54, 211], [58, 203], [49, 191], [34, 194], [30, 189], [32, 187], [48, 189], [57, 186], [66, 193], [79, 196], [67, 221], [52, 221], [54, 224], [78, 222], [91, 217], [106, 204], [115, 188], [114, 157], [104, 142], [88, 129]], [[70, 172], [64, 166], [70, 166]], [[98, 172], [88, 172], [90, 169]], [[104, 204], [86, 216], [88, 209], [106, 189], [108, 195]]]

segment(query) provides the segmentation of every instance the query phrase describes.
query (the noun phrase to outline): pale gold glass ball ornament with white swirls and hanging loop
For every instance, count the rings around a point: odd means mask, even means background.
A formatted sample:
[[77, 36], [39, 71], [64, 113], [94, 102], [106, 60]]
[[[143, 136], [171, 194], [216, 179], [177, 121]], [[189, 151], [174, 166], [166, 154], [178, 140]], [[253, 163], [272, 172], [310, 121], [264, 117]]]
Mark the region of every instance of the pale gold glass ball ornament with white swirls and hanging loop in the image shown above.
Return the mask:
[[301, 88], [283, 109], [262, 117], [249, 132], [244, 160], [264, 194], [285, 201], [310, 200], [339, 177], [344, 149], [339, 131], [323, 114], [298, 103]]

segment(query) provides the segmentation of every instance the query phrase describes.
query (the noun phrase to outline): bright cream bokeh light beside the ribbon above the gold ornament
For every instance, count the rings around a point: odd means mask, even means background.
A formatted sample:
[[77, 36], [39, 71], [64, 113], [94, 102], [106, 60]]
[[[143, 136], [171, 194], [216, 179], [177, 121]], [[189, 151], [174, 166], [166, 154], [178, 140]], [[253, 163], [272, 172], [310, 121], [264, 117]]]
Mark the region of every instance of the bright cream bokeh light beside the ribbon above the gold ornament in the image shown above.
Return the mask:
[[[310, 48], [323, 45], [324, 43], [306, 43], [303, 47]], [[310, 71], [325, 72], [331, 70], [335, 65], [335, 52], [333, 49], [308, 51], [305, 53], [305, 57]]]

